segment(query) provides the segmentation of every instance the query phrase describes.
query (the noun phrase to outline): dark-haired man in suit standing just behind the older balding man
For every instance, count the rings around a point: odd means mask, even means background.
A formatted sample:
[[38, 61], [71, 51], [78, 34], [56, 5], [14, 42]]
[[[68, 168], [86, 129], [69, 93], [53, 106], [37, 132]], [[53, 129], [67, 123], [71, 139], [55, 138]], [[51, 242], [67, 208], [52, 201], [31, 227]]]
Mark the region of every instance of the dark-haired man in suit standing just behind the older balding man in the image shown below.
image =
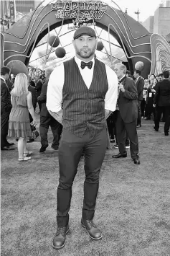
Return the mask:
[[144, 79], [141, 77], [141, 71], [135, 70], [133, 74], [136, 79], [136, 87], [138, 91], [138, 120], [137, 120], [137, 128], [141, 127], [141, 102], [143, 100], [143, 87], [144, 87]]

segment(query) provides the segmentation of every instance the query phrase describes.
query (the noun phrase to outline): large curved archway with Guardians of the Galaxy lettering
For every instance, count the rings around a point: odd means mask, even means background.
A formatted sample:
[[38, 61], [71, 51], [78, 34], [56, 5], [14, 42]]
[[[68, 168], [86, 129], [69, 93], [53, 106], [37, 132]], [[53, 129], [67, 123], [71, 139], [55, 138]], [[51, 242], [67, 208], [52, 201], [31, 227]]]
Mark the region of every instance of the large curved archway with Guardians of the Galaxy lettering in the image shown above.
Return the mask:
[[[123, 48], [130, 71], [133, 72], [135, 64], [142, 61], [144, 64], [142, 76], [149, 74], [151, 35], [121, 9], [101, 1], [53, 1], [52, 4], [44, 6], [39, 4], [34, 12], [19, 19], [8, 32], [4, 33], [4, 64], [11, 60], [19, 60], [28, 65], [32, 51], [44, 35], [72, 22], [75, 29], [76, 26], [93, 23], [96, 27], [107, 31], [107, 40], [110, 41], [112, 35]], [[112, 61], [111, 57], [110, 61]]]

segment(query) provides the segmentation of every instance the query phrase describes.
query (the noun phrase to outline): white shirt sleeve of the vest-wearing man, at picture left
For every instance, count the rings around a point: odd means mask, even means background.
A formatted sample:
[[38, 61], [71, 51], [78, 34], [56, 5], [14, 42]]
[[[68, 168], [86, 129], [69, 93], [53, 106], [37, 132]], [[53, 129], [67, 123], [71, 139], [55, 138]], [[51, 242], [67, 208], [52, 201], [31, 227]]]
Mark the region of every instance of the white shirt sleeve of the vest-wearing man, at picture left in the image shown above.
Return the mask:
[[65, 81], [63, 63], [52, 71], [47, 87], [47, 110], [59, 112], [62, 109], [62, 88]]

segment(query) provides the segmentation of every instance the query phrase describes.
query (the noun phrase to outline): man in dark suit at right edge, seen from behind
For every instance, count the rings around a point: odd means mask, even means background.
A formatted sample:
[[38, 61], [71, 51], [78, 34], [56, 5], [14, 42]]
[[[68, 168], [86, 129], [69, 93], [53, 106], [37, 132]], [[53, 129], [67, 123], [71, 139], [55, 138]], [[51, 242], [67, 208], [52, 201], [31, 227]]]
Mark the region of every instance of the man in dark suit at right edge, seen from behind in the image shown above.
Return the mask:
[[163, 72], [164, 80], [159, 81], [156, 84], [156, 94], [154, 97], [154, 107], [156, 107], [156, 118], [154, 120], [154, 129], [159, 131], [159, 122], [161, 119], [161, 114], [164, 112], [165, 124], [164, 124], [164, 134], [169, 135], [170, 127], [170, 81], [169, 81], [169, 71]]

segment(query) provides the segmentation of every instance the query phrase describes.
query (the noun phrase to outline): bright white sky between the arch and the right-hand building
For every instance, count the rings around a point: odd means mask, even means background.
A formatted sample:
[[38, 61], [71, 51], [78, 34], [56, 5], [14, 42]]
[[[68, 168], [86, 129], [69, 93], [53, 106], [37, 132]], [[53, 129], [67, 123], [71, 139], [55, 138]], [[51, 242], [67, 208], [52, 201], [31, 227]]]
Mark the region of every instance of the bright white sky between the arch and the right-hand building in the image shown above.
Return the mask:
[[[46, 0], [45, 2], [49, 2]], [[103, 0], [108, 4], [112, 2], [111, 0]], [[137, 14], [134, 12], [140, 12], [139, 22], [144, 22], [149, 16], [154, 15], [155, 10], [161, 4], [162, 0], [114, 0], [118, 6], [121, 7], [123, 12], [125, 12], [126, 7], [128, 8], [128, 15], [137, 20]], [[114, 5], [115, 6], [115, 5]], [[117, 7], [118, 8], [118, 7]]]

